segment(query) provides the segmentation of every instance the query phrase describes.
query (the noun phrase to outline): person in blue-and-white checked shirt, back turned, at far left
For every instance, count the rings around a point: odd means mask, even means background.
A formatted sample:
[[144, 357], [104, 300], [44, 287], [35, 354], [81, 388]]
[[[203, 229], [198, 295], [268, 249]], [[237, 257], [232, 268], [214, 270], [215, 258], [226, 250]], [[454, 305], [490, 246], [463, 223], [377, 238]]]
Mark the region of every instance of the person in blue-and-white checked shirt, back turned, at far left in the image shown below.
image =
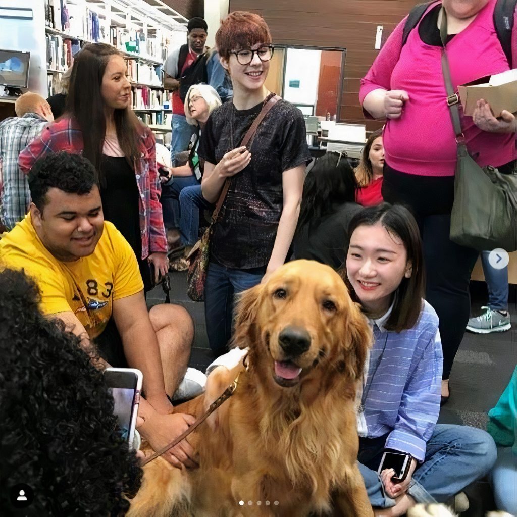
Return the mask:
[[14, 111], [16, 117], [0, 122], [0, 219], [7, 230], [24, 218], [31, 201], [27, 179], [18, 168], [20, 151], [54, 120], [49, 103], [32, 92], [16, 99]]

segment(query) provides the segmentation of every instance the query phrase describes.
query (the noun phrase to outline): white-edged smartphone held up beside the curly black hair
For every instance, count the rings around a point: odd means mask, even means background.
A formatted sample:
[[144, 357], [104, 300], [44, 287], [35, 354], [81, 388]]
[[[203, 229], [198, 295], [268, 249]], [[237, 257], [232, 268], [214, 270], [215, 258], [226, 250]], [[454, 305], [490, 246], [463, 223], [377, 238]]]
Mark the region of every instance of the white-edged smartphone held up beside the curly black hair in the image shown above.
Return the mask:
[[113, 397], [113, 413], [117, 417], [121, 435], [133, 448], [136, 417], [142, 390], [142, 372], [136, 368], [107, 368], [104, 381]]

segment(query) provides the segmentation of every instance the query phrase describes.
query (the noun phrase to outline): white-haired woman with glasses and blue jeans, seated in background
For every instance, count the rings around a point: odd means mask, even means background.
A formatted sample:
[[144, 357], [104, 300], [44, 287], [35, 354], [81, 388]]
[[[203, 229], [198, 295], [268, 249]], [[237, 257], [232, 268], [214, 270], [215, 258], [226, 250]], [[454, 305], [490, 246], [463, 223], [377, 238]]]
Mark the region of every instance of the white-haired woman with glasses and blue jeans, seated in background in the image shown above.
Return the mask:
[[[168, 176], [162, 176], [162, 195], [160, 201], [163, 207], [163, 221], [168, 238], [173, 227], [179, 226], [177, 239], [181, 245], [187, 247], [187, 253], [195, 244], [199, 234], [199, 211], [210, 208], [201, 193], [201, 177], [203, 175], [204, 160], [197, 155], [201, 132], [205, 127], [210, 113], [221, 105], [221, 99], [214, 88], [208, 84], [192, 85], [185, 99], [185, 116], [187, 122], [198, 130], [190, 140], [190, 152], [185, 165], [173, 167]], [[185, 189], [191, 189], [182, 195]], [[176, 230], [177, 232], [177, 230]], [[186, 269], [185, 259], [171, 263], [175, 270]]]

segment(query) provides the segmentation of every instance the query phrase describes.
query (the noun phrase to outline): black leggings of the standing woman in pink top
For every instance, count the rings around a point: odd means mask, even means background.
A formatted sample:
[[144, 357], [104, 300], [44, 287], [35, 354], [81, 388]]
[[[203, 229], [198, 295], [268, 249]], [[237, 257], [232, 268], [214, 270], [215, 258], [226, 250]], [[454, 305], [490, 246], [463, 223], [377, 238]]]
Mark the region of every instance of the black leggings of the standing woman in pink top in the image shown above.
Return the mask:
[[384, 166], [382, 194], [403, 204], [417, 220], [423, 240], [425, 299], [438, 314], [448, 379], [470, 315], [469, 282], [479, 252], [449, 239], [454, 177], [416, 176]]

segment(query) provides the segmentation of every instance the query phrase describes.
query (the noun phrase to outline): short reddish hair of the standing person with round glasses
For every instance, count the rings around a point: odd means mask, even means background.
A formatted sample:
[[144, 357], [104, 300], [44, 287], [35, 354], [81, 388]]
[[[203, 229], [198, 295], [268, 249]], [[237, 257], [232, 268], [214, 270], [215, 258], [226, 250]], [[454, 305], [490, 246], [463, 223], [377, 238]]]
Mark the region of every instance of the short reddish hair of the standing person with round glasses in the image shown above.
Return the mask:
[[230, 52], [249, 49], [257, 43], [269, 45], [271, 33], [264, 18], [253, 12], [231, 12], [216, 33], [217, 51], [225, 59], [230, 58]]

